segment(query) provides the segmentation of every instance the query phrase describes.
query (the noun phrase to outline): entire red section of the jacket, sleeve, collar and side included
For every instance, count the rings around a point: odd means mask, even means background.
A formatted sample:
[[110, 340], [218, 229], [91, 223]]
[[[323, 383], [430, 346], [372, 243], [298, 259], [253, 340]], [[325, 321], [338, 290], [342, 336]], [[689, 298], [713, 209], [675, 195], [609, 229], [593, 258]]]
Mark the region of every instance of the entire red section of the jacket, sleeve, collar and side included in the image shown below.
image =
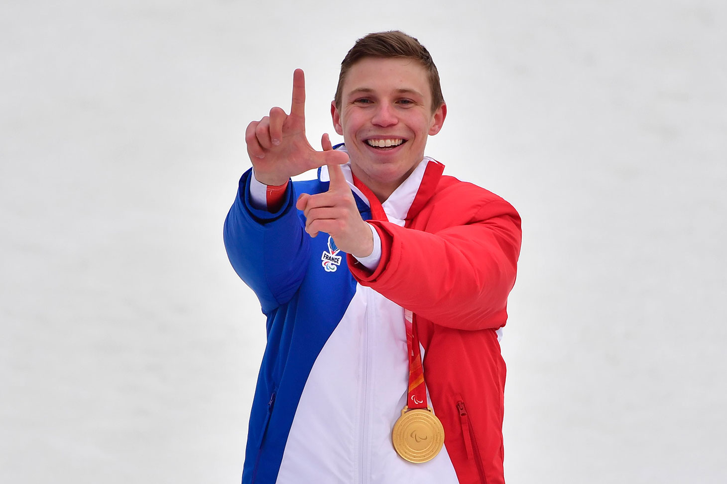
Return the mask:
[[425, 382], [459, 482], [504, 483], [505, 361], [495, 331], [505, 326], [515, 283], [517, 211], [481, 187], [427, 169], [406, 227], [371, 223], [381, 236], [381, 262], [371, 273], [349, 256], [351, 273], [414, 312]]

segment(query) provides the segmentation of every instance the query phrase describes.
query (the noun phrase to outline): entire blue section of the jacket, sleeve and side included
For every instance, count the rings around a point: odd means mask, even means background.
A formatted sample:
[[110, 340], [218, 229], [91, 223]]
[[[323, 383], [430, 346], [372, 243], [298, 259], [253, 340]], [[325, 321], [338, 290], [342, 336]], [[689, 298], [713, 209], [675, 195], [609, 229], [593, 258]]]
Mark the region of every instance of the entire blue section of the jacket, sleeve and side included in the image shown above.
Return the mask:
[[[303, 230], [302, 211], [295, 209], [300, 193], [325, 192], [328, 182], [289, 183], [283, 206], [270, 213], [250, 203], [250, 177], [252, 170], [241, 177], [223, 236], [230, 263], [268, 318], [242, 475], [244, 484], [268, 484], [276, 482], [310, 368], [356, 294], [356, 281], [343, 252], [337, 254], [342, 263], [335, 272], [324, 270], [328, 234], [311, 238]], [[356, 197], [356, 204], [369, 219], [366, 203]]]

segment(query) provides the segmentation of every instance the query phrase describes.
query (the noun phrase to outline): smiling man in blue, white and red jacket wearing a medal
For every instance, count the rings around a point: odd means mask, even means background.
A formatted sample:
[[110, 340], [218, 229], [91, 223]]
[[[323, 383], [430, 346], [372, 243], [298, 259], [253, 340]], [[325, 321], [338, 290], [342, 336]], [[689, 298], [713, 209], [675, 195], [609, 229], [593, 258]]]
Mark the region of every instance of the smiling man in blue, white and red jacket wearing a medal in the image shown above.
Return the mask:
[[290, 113], [248, 126], [253, 168], [225, 221], [268, 318], [243, 483], [503, 483], [517, 212], [424, 156], [446, 105], [417, 39], [348, 52], [331, 105], [344, 145], [310, 147], [304, 104], [296, 70]]

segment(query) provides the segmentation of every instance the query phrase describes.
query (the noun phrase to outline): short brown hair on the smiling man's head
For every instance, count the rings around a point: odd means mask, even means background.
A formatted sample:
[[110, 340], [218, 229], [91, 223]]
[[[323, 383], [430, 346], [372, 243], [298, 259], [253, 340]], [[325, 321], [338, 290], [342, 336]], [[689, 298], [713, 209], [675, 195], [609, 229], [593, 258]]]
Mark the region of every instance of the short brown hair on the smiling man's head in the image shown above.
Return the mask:
[[417, 39], [401, 31], [386, 31], [369, 33], [353, 44], [346, 57], [341, 62], [341, 72], [338, 75], [338, 86], [334, 102], [338, 110], [341, 109], [343, 81], [352, 65], [364, 57], [406, 57], [422, 64], [429, 76], [429, 86], [432, 91], [432, 112], [444, 104], [442, 87], [439, 82], [439, 72], [434, 65], [429, 51], [419, 44]]

